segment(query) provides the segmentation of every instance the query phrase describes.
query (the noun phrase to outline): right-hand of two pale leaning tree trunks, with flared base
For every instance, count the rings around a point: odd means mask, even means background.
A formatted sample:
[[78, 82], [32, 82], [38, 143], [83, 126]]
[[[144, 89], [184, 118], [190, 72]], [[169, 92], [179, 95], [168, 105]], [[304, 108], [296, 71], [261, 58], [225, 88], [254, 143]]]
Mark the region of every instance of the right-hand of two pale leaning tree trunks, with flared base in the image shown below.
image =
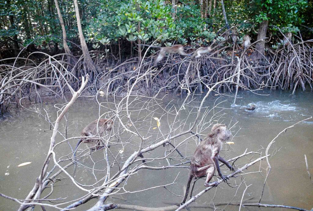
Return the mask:
[[84, 38], [83, 29], [81, 28], [80, 14], [79, 14], [77, 0], [74, 0], [74, 6], [75, 6], [76, 19], [77, 19], [77, 27], [78, 27], [79, 37], [80, 37], [80, 45], [81, 45], [81, 49], [83, 51], [83, 56], [84, 56], [84, 70], [85, 70], [85, 74], [87, 74], [87, 72], [90, 71], [90, 79], [92, 79], [91, 73], [97, 73], [97, 69], [95, 68], [95, 64], [90, 57], [87, 44]]

